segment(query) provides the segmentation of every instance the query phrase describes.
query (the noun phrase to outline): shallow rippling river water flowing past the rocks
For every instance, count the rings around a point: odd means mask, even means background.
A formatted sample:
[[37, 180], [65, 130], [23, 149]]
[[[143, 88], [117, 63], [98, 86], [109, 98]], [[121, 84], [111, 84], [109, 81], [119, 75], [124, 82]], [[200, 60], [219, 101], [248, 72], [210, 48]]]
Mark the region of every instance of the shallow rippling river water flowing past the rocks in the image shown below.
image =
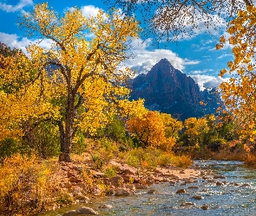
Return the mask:
[[[222, 161], [195, 161], [194, 166], [200, 169], [212, 169], [217, 175], [225, 175], [226, 179], [217, 181], [226, 181], [226, 184], [216, 186], [216, 183], [203, 179], [186, 185], [182, 181], [176, 185], [161, 183], [151, 186], [155, 194], [148, 194], [148, 190], [140, 190], [135, 195], [108, 196], [81, 205], [92, 207], [99, 215], [256, 216], [256, 167], [247, 167], [242, 162]], [[199, 188], [188, 188], [191, 186]], [[187, 193], [176, 194], [176, 191], [181, 188], [185, 188]], [[194, 200], [194, 195], [201, 195], [204, 199]], [[184, 202], [192, 202], [193, 205], [182, 206]], [[109, 204], [113, 208], [99, 208], [103, 204]], [[203, 205], [207, 205], [208, 209], [201, 209]], [[61, 216], [78, 206], [57, 209], [49, 213], [37, 214], [37, 216]]]

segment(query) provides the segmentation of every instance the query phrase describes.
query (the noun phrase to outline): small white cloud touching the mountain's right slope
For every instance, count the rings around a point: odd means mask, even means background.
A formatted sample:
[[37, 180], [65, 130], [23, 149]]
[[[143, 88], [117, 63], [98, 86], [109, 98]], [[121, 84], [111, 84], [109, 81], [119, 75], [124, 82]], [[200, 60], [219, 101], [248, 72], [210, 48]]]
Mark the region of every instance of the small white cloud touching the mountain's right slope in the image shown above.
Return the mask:
[[204, 74], [196, 74], [189, 75], [192, 79], [194, 79], [195, 83], [198, 84], [200, 90], [203, 91], [206, 88], [213, 88], [220, 86], [220, 83], [223, 81], [227, 81], [227, 79], [223, 79], [221, 77], [213, 77]]

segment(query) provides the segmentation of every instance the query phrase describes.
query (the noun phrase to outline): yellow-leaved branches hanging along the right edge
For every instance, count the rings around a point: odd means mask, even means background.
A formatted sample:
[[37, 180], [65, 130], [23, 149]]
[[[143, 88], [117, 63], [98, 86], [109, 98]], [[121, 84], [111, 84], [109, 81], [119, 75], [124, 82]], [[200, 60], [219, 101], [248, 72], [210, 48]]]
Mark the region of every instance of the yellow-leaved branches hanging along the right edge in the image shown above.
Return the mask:
[[[233, 74], [220, 85], [222, 98], [240, 124], [240, 131], [249, 133], [252, 141], [256, 135], [255, 17], [256, 7], [247, 6], [230, 22], [228, 42], [233, 46], [234, 59], [227, 63], [228, 69], [220, 71], [221, 77], [227, 72]], [[221, 36], [216, 48], [223, 48], [225, 41], [226, 38]]]

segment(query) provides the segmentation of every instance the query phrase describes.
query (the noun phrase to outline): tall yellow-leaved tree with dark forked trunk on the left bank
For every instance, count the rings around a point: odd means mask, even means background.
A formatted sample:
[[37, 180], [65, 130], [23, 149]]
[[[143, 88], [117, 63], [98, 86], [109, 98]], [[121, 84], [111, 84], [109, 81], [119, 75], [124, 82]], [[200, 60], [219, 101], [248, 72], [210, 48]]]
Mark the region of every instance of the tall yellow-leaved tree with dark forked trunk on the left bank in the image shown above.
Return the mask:
[[[121, 109], [125, 105], [122, 100], [127, 101], [129, 90], [124, 84], [134, 73], [121, 68], [121, 62], [128, 54], [128, 38], [136, 37], [140, 29], [133, 17], [121, 18], [115, 10], [110, 15], [100, 11], [96, 17], [86, 18], [74, 8], [60, 16], [49, 10], [47, 3], [24, 14], [20, 25], [29, 36], [52, 42], [50, 48], [31, 45], [27, 48], [30, 60], [24, 61], [32, 64], [34, 79], [29, 83], [38, 90], [30, 100], [38, 105], [41, 99], [42, 105], [49, 106], [48, 117], [56, 121], [60, 131], [59, 161], [69, 162], [76, 130], [96, 130], [113, 115], [116, 106]], [[15, 62], [9, 65], [16, 67]], [[22, 68], [16, 71], [23, 73]], [[1, 73], [12, 74], [6, 69]]]

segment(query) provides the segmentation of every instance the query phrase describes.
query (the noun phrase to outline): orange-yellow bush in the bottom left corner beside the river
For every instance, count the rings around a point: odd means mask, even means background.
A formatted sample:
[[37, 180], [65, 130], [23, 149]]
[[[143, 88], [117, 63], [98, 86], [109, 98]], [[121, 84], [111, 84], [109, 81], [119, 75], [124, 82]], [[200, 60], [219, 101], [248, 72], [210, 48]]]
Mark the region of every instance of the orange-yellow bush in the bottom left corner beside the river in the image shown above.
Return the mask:
[[14, 155], [0, 167], [1, 215], [26, 215], [43, 210], [52, 197], [56, 182], [49, 179], [52, 168], [36, 156]]

